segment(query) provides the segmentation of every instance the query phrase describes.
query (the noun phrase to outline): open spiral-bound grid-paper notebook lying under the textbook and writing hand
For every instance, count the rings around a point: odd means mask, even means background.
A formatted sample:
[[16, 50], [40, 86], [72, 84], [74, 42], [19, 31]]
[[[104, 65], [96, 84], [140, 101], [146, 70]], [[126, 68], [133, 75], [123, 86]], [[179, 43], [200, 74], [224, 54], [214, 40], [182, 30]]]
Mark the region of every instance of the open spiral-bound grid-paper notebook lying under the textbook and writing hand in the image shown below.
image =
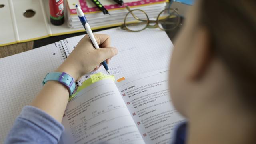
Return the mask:
[[[114, 28], [98, 33], [110, 35], [112, 46], [119, 50], [109, 64], [116, 79], [168, 68], [173, 45], [164, 31], [126, 32]], [[32, 102], [40, 91], [46, 74], [60, 66], [82, 37], [67, 38], [0, 59], [0, 143], [4, 142], [22, 107]], [[103, 67], [97, 72], [106, 74]], [[86, 80], [88, 75], [81, 80]]]

